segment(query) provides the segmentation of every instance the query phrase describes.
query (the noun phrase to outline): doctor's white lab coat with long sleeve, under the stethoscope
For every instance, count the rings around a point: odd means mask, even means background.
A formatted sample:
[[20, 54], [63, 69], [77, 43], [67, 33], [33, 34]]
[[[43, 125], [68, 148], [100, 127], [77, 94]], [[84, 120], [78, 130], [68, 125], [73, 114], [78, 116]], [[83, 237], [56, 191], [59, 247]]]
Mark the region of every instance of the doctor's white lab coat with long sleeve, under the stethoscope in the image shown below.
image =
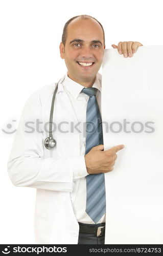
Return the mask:
[[[15, 186], [37, 188], [34, 219], [36, 244], [78, 244], [79, 224], [72, 203], [76, 195], [73, 191], [78, 189], [79, 184], [79, 179], [73, 181], [73, 170], [78, 168], [78, 163], [83, 164], [84, 158], [80, 156], [80, 134], [54, 133], [57, 145], [47, 150], [44, 139], [49, 137], [49, 125], [44, 131], [42, 124], [39, 130], [43, 133], [25, 132], [31, 131], [25, 127], [25, 122], [36, 123], [36, 119], [49, 122], [56, 84], [38, 89], [27, 100], [8, 160], [8, 173]], [[56, 100], [53, 121], [78, 122], [62, 83], [59, 83]]]

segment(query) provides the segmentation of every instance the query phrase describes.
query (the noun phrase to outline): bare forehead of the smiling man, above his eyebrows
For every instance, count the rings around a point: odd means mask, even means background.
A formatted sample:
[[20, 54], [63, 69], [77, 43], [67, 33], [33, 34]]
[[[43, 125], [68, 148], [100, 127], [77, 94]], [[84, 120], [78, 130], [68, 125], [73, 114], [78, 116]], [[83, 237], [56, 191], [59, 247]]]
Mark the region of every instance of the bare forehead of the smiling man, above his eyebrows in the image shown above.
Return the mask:
[[103, 40], [103, 30], [100, 24], [92, 18], [76, 18], [67, 27], [67, 41], [74, 38], [88, 41]]

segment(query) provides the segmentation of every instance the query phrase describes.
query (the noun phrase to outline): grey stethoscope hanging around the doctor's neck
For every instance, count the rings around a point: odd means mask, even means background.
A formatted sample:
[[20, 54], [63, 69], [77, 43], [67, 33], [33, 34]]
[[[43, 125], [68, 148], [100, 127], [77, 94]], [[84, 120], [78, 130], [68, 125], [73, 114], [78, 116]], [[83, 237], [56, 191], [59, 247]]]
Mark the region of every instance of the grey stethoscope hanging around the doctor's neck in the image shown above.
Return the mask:
[[[59, 81], [58, 81], [58, 83], [59, 83]], [[52, 150], [52, 148], [54, 148], [55, 145], [56, 145], [56, 140], [53, 138], [53, 135], [52, 135], [52, 123], [53, 123], [54, 101], [55, 101], [56, 92], [57, 92], [57, 89], [58, 89], [58, 83], [56, 85], [56, 88], [55, 88], [54, 94], [53, 94], [53, 98], [52, 98], [51, 113], [50, 113], [50, 123], [49, 123], [49, 137], [44, 140], [44, 146], [48, 150]]]

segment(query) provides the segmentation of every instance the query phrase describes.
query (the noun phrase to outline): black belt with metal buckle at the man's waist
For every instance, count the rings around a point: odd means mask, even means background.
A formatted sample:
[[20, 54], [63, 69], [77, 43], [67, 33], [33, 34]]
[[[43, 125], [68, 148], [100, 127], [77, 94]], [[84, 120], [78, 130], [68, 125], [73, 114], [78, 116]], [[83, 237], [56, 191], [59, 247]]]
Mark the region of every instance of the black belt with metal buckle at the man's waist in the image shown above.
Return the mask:
[[104, 226], [98, 226], [98, 227], [88, 227], [88, 226], [81, 225], [79, 223], [79, 232], [88, 233], [88, 234], [95, 234], [97, 237], [100, 237], [100, 236], [103, 236], [105, 234], [105, 225]]

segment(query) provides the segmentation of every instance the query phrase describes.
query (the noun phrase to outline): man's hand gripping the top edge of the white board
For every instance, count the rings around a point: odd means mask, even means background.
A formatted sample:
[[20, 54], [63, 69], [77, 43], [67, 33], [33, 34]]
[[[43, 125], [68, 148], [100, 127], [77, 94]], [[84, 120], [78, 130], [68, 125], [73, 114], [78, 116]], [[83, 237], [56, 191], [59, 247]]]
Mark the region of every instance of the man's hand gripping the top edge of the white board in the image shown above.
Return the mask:
[[120, 54], [123, 54], [123, 56], [126, 57], [132, 57], [133, 53], [137, 51], [137, 48], [139, 46], [143, 46], [141, 42], [133, 42], [133, 41], [128, 41], [128, 42], [119, 42], [118, 46], [116, 45], [111, 45], [114, 49], [118, 49], [118, 52]]

